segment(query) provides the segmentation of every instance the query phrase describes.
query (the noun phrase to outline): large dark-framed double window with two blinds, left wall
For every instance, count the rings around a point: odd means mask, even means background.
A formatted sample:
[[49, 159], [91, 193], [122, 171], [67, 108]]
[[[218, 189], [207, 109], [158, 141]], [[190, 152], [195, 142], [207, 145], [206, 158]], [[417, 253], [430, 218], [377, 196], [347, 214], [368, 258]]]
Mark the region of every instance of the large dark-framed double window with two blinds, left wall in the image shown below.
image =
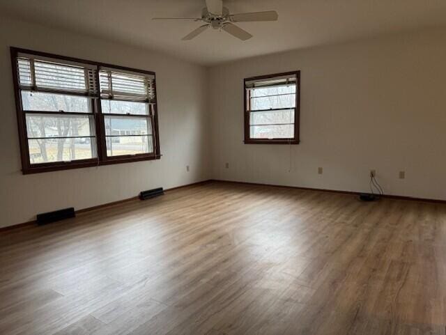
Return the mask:
[[153, 72], [11, 54], [24, 173], [160, 157]]

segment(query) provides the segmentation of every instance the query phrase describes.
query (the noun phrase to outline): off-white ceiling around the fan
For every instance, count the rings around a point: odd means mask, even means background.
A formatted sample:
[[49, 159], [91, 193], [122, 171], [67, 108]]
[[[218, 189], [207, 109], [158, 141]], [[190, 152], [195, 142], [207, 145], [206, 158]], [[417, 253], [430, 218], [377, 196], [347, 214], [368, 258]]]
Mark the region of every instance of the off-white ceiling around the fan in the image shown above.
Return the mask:
[[242, 42], [209, 29], [180, 40], [199, 22], [151, 17], [199, 17], [204, 0], [0, 0], [0, 12], [91, 36], [158, 49], [214, 65], [249, 56], [313, 47], [383, 33], [446, 25], [446, 0], [224, 0], [231, 13], [277, 10], [278, 22], [239, 25], [254, 38]]

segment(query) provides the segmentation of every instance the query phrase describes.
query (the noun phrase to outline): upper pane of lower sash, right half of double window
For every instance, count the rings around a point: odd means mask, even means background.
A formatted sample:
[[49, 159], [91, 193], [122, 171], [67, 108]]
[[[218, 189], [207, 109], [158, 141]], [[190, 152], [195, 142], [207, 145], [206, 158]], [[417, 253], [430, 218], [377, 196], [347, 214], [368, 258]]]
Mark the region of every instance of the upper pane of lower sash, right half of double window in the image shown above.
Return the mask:
[[105, 116], [105, 134], [110, 135], [147, 135], [152, 134], [149, 118]]

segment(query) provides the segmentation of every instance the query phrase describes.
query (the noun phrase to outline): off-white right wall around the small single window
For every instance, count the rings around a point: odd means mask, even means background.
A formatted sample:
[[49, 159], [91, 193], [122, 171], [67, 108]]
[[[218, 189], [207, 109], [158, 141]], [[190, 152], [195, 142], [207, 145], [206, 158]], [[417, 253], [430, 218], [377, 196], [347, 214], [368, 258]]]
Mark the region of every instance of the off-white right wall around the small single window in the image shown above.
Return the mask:
[[[245, 145], [243, 78], [291, 70], [300, 145]], [[210, 79], [214, 178], [364, 192], [376, 169], [387, 194], [446, 200], [445, 30], [259, 56]]]

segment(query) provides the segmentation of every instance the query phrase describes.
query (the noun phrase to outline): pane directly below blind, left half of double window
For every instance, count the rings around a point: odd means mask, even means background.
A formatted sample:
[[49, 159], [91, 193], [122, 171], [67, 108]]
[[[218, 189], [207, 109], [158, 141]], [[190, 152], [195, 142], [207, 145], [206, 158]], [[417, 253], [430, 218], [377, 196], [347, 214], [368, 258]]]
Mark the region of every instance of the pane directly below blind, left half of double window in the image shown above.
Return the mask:
[[91, 113], [89, 98], [76, 95], [22, 91], [24, 111], [75, 111]]

